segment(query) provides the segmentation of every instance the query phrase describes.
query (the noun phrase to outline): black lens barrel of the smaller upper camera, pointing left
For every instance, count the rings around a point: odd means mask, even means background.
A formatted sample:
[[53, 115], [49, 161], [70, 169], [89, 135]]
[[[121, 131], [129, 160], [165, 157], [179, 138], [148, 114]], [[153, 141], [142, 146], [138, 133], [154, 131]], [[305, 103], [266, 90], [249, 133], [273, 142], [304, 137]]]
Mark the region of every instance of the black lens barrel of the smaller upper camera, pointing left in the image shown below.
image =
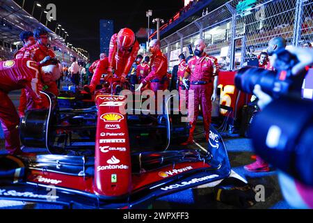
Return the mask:
[[234, 82], [236, 88], [244, 93], [253, 94], [255, 85], [259, 84], [262, 91], [269, 95], [273, 95], [276, 76], [277, 73], [270, 70], [245, 67], [241, 68], [236, 73]]

